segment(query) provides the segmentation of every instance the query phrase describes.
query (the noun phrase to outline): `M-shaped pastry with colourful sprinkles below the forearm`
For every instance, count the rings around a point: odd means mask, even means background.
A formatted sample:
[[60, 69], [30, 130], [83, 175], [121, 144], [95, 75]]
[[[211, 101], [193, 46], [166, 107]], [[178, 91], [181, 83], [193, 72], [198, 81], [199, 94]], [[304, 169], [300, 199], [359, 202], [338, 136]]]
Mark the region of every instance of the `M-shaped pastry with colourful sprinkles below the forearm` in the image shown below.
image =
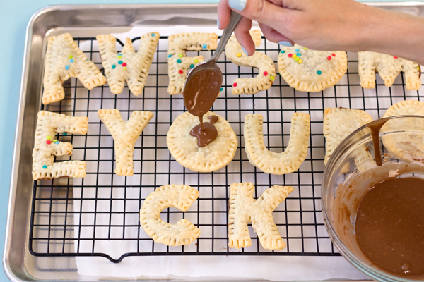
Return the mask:
[[358, 58], [360, 86], [364, 88], [375, 88], [376, 72], [384, 80], [384, 85], [391, 87], [401, 71], [405, 73], [407, 90], [418, 90], [421, 87], [421, 70], [418, 63], [369, 51], [359, 52]]

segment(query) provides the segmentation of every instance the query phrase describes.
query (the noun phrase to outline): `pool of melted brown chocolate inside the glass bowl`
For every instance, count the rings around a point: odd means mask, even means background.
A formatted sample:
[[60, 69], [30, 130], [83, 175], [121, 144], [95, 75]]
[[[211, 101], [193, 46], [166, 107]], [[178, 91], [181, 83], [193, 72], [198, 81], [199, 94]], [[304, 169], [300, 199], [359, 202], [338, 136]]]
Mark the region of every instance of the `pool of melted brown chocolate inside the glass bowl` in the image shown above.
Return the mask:
[[389, 178], [360, 200], [358, 245], [375, 265], [399, 276], [424, 275], [424, 180]]

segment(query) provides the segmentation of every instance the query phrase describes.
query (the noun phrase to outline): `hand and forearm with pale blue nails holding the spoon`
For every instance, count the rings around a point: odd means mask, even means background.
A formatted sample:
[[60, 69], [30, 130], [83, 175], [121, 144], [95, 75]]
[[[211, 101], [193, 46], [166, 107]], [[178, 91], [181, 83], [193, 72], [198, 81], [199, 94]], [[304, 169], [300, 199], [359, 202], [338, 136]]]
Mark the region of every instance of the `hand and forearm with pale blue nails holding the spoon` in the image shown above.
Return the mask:
[[256, 20], [266, 39], [286, 46], [296, 42], [315, 50], [377, 51], [423, 61], [424, 20], [406, 13], [355, 0], [220, 0], [220, 29], [228, 25], [231, 10], [243, 16], [235, 36], [249, 55], [254, 54], [249, 30]]

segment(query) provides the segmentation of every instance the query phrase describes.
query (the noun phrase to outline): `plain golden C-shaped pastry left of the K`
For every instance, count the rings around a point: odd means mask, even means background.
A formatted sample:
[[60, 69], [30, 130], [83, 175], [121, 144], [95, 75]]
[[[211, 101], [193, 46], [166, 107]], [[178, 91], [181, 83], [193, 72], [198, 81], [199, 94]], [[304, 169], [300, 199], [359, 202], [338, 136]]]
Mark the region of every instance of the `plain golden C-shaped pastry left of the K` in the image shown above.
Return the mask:
[[199, 238], [200, 229], [187, 219], [170, 224], [160, 219], [160, 212], [167, 207], [186, 212], [199, 197], [199, 191], [189, 185], [165, 185], [152, 192], [140, 209], [140, 224], [155, 243], [168, 246], [189, 245]]

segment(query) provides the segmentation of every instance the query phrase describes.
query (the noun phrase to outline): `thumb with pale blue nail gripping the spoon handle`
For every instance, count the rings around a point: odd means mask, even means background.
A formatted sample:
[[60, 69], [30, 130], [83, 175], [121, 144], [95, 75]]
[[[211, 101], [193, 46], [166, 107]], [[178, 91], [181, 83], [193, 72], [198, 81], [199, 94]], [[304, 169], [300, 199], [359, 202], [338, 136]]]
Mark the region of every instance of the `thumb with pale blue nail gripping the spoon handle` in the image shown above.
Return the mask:
[[277, 29], [284, 23], [289, 10], [267, 0], [228, 0], [228, 6], [240, 15]]

